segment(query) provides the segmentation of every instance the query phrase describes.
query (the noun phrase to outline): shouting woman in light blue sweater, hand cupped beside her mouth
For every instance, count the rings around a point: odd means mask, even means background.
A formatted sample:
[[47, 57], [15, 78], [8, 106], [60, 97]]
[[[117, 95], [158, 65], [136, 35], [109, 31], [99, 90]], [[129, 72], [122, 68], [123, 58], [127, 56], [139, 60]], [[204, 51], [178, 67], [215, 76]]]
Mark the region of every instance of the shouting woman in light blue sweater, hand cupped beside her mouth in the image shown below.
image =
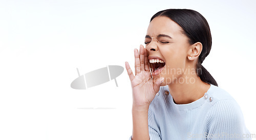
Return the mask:
[[200, 13], [167, 9], [151, 18], [145, 48], [134, 50], [135, 76], [125, 62], [133, 91], [130, 139], [248, 137], [239, 105], [202, 66], [210, 49]]

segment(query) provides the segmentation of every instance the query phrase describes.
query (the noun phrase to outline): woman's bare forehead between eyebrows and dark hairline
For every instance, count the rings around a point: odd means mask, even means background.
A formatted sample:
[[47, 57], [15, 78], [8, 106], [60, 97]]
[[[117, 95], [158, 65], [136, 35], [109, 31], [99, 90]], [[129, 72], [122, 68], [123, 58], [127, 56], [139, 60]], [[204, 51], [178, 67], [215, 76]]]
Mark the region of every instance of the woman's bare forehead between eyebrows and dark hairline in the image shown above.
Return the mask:
[[155, 17], [147, 28], [147, 35], [157, 36], [158, 34], [167, 34], [175, 37], [182, 35], [182, 28], [172, 19], [165, 16]]

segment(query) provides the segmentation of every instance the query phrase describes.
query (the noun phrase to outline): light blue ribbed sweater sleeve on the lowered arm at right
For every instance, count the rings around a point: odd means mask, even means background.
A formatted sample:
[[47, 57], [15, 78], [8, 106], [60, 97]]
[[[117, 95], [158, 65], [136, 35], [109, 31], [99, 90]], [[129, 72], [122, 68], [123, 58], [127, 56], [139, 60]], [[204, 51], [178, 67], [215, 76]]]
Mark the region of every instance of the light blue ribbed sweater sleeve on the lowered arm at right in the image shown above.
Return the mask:
[[233, 99], [220, 100], [209, 110], [207, 139], [251, 139], [240, 106]]

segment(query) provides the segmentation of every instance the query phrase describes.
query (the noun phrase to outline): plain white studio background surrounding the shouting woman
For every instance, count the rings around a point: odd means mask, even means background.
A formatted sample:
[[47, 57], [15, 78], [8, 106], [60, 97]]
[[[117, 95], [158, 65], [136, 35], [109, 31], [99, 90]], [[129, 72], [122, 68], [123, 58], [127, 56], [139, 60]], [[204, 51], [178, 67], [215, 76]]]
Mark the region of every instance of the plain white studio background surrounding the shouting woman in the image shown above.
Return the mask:
[[[150, 18], [193, 9], [208, 21], [212, 50], [203, 62], [255, 123], [255, 1], [0, 1], [0, 139], [128, 139], [134, 49]], [[81, 75], [121, 65], [115, 81], [76, 90]], [[98, 107], [113, 109], [95, 109]], [[94, 109], [86, 109], [94, 108]]]

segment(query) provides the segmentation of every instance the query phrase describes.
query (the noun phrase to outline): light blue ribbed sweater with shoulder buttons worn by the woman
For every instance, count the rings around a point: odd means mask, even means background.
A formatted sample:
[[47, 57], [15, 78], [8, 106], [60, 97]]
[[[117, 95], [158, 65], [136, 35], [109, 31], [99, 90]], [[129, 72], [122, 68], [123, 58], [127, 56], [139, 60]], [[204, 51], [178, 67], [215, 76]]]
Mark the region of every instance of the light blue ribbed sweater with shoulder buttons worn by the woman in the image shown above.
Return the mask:
[[189, 104], [175, 104], [168, 92], [168, 86], [160, 87], [148, 109], [151, 140], [251, 139], [241, 108], [222, 88], [211, 84]]

